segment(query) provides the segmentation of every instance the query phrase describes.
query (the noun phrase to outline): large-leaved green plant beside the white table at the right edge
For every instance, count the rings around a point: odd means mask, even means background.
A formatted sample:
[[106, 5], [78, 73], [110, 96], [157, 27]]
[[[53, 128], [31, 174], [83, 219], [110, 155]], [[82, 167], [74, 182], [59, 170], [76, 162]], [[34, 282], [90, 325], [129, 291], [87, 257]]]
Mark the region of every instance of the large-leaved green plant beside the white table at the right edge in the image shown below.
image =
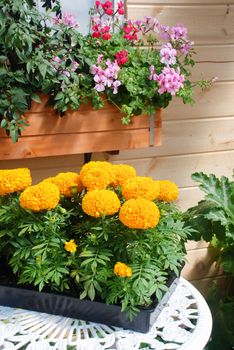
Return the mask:
[[216, 285], [210, 297], [214, 317], [209, 350], [231, 350], [233, 336], [233, 276], [234, 276], [234, 182], [227, 177], [195, 173], [192, 178], [200, 183], [205, 199], [185, 213], [186, 223], [193, 227], [192, 239], [203, 238], [218, 248], [217, 262], [229, 274], [227, 288]]

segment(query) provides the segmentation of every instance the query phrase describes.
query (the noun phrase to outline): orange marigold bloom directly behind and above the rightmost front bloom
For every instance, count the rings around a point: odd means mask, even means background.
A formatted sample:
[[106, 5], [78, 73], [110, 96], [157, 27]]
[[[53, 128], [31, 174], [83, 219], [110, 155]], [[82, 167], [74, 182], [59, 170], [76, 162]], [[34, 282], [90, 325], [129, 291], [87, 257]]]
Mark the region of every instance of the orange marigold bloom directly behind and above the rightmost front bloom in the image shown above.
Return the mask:
[[159, 195], [159, 184], [151, 177], [136, 176], [124, 182], [122, 194], [125, 199], [145, 198], [154, 200]]

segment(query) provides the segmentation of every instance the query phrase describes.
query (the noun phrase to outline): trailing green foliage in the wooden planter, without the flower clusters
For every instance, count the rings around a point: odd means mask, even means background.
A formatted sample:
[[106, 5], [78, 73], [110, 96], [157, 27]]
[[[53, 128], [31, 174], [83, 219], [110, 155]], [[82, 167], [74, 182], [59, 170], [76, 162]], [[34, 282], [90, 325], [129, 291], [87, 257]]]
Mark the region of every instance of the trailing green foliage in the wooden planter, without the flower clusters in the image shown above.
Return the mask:
[[[149, 80], [150, 65], [155, 67], [155, 74], [165, 67], [155, 46], [158, 40], [152, 34], [145, 35], [149, 49], [140, 48], [141, 40], [136, 43], [126, 40], [121, 28], [112, 33], [110, 40], [97, 41], [91, 34], [79, 33], [75, 26], [52, 21], [53, 15], [62, 18], [59, 0], [41, 2], [46, 13], [40, 13], [33, 0], [0, 0], [0, 127], [14, 142], [28, 126], [24, 114], [32, 100], [40, 102], [38, 93], [48, 94], [48, 103], [61, 116], [68, 109], [77, 110], [81, 103], [91, 102], [94, 108], [102, 108], [105, 98], [124, 113], [124, 124], [133, 115], [167, 107], [171, 93], [160, 94], [156, 82]], [[178, 43], [175, 41], [174, 45]], [[128, 60], [119, 72], [118, 93], [107, 88], [104, 97], [95, 90], [91, 68], [100, 54], [103, 62], [108, 59], [114, 62], [116, 53], [123, 50], [127, 50]], [[184, 103], [193, 102], [194, 84], [189, 81], [194, 65], [192, 53], [193, 50], [178, 54], [174, 65], [185, 77], [177, 94]], [[54, 58], [60, 59], [57, 66]]]

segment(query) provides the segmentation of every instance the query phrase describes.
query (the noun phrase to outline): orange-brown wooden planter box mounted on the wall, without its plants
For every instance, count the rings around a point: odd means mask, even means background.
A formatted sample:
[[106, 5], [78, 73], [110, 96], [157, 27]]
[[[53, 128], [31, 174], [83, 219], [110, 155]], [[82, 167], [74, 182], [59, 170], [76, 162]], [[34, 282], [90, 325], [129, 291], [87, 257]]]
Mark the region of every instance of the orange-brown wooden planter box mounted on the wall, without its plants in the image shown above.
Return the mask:
[[41, 99], [42, 103], [33, 103], [26, 113], [30, 126], [25, 128], [16, 144], [0, 129], [0, 159], [103, 152], [161, 144], [161, 110], [156, 111], [151, 123], [149, 115], [144, 115], [134, 117], [130, 125], [122, 125], [120, 112], [110, 103], [100, 110], [83, 105], [61, 118], [46, 106], [46, 96]]

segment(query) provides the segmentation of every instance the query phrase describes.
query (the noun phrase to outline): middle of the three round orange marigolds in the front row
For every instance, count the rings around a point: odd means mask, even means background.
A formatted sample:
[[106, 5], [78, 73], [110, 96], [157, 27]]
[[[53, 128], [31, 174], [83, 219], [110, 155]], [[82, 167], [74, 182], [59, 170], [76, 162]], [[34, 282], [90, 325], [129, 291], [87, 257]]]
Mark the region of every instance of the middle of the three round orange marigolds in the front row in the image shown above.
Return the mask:
[[82, 200], [83, 211], [95, 218], [113, 215], [118, 212], [120, 200], [117, 194], [110, 190], [94, 190], [87, 192]]

